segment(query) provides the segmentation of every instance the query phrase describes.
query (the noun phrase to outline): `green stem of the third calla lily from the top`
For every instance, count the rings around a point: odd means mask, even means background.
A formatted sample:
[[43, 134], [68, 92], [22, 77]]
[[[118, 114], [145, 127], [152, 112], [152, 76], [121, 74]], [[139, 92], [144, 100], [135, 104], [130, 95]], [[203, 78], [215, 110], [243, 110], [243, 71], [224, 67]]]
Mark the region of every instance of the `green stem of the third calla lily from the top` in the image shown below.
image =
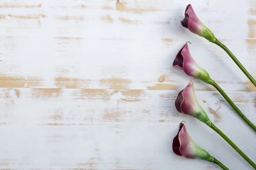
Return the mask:
[[210, 127], [217, 132], [225, 141], [227, 141], [230, 146], [232, 146], [237, 153], [239, 153], [255, 170], [256, 170], [256, 164], [253, 163], [252, 160], [250, 160], [240, 149], [236, 146], [224, 133], [221, 132], [213, 123], [210, 125]]

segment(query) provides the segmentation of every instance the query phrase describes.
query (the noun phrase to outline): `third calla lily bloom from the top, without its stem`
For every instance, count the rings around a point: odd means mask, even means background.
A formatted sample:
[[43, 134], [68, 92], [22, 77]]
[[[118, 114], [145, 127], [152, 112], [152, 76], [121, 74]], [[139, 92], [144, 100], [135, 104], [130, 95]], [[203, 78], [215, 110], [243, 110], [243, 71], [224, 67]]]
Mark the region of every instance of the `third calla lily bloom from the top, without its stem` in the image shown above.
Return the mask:
[[196, 119], [211, 126], [212, 122], [205, 113], [204, 109], [199, 105], [194, 91], [194, 82], [191, 80], [189, 84], [177, 96], [175, 107], [178, 112], [193, 116]]

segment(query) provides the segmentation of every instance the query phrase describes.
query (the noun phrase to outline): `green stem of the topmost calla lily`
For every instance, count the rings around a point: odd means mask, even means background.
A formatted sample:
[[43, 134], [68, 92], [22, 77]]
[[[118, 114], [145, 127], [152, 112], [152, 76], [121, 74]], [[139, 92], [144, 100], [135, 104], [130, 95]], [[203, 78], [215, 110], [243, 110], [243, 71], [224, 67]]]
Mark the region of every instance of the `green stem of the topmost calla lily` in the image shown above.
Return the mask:
[[224, 49], [224, 51], [227, 52], [227, 54], [233, 59], [233, 61], [236, 63], [236, 65], [243, 71], [243, 73], [250, 79], [250, 81], [253, 83], [253, 85], [256, 87], [256, 81], [253, 79], [253, 77], [250, 75], [250, 73], [244, 68], [244, 66], [239, 62], [239, 60], [234, 56], [234, 54], [221, 42], [219, 42], [217, 39], [214, 42], [216, 45]]

